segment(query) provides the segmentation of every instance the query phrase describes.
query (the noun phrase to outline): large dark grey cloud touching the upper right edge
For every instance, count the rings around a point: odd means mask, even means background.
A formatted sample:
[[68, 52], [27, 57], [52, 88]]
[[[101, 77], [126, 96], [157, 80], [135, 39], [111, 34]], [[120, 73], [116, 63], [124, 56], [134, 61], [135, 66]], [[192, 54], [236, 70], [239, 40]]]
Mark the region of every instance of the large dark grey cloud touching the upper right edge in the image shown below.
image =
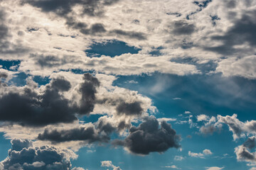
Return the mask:
[[[223, 45], [216, 47], [205, 47], [206, 50], [218, 52], [223, 55], [231, 55], [234, 52], [238, 52], [235, 49], [235, 45], [243, 45], [246, 42], [252, 47], [256, 45], [256, 22], [255, 22], [256, 11], [250, 11], [243, 14], [242, 18], [235, 21], [225, 35], [212, 36], [211, 40], [222, 41]], [[241, 50], [240, 50], [241, 51]]]

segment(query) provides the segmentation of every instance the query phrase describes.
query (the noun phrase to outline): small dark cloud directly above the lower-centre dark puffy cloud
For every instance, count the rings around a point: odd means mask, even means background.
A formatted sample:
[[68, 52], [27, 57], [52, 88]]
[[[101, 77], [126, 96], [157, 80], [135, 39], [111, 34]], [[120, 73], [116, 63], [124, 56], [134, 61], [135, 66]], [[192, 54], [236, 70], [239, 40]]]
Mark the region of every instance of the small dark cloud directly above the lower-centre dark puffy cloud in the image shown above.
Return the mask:
[[125, 115], [142, 115], [142, 106], [141, 102], [134, 101], [133, 103], [122, 102], [117, 106], [117, 114]]

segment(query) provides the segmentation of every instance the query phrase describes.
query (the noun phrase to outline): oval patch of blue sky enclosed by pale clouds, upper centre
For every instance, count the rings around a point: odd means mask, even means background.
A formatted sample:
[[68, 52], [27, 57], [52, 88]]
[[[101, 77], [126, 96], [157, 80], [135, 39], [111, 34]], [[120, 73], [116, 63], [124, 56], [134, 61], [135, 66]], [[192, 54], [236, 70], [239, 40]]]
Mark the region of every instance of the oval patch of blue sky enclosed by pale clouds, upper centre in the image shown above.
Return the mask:
[[101, 57], [102, 55], [114, 57], [125, 53], [137, 54], [139, 48], [127, 45], [119, 40], [107, 40], [107, 42], [92, 44], [85, 53], [89, 57]]

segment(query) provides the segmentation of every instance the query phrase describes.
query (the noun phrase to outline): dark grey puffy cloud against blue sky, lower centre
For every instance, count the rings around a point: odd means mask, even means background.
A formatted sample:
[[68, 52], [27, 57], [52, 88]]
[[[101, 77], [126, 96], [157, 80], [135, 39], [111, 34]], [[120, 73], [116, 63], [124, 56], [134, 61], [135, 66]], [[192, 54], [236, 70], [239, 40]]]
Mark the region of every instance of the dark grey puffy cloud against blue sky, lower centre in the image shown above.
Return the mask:
[[129, 136], [125, 140], [114, 140], [113, 145], [127, 147], [134, 154], [149, 154], [150, 152], [165, 152], [170, 147], [180, 147], [178, 142], [181, 137], [169, 123], [163, 121], [161, 128], [154, 116], [144, 120], [138, 127], [129, 130]]

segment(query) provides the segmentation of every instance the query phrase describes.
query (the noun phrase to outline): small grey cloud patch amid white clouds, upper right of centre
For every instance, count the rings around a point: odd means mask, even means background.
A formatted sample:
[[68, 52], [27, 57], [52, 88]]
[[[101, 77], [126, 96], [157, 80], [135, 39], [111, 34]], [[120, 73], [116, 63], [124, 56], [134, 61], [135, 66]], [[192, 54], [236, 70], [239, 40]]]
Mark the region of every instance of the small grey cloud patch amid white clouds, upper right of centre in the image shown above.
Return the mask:
[[174, 23], [174, 30], [172, 33], [176, 35], [191, 35], [196, 30], [193, 23], [187, 23], [186, 21], [176, 21]]

